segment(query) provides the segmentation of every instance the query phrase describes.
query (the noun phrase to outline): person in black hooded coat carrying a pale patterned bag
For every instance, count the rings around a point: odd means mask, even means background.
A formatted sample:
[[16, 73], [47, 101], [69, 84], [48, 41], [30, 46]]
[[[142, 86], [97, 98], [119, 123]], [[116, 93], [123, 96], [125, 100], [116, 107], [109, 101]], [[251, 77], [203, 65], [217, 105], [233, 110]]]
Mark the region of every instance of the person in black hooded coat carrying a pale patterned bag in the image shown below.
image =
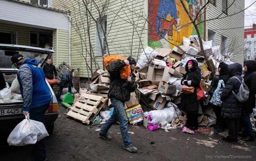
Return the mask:
[[[219, 80], [223, 80], [224, 84], [227, 83], [227, 80], [229, 79], [228, 72], [227, 72], [227, 66], [228, 64], [221, 62], [219, 64], [218, 72], [216, 72], [214, 79], [212, 80], [211, 83], [211, 89], [214, 88], [216, 89], [219, 83]], [[211, 95], [212, 98], [212, 95]], [[221, 117], [221, 106], [216, 106], [212, 105], [213, 111], [215, 112], [216, 115], [216, 126], [214, 126], [214, 131], [217, 133], [220, 133], [222, 131], [225, 131], [225, 119]]]

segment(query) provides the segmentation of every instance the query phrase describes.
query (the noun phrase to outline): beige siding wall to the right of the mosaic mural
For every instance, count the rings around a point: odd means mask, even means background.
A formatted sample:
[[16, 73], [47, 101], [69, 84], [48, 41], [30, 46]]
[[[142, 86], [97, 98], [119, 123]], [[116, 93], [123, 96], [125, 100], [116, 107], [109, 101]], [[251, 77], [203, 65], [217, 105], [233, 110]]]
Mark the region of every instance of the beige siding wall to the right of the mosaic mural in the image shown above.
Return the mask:
[[[233, 1], [232, 1], [233, 2]], [[228, 6], [231, 5], [228, 1]], [[221, 45], [222, 35], [228, 37], [228, 52], [234, 53], [231, 61], [243, 62], [243, 26], [244, 12], [238, 13], [244, 9], [244, 0], [236, 0], [227, 10], [227, 14], [222, 12], [222, 1], [217, 1], [216, 6], [210, 4], [206, 9], [206, 19], [213, 19], [206, 22], [206, 39], [207, 30], [211, 29], [217, 33], [216, 44]], [[222, 14], [222, 15], [221, 15]], [[233, 15], [234, 14], [234, 15]], [[220, 15], [220, 16], [219, 16]], [[218, 19], [215, 19], [219, 16]]]

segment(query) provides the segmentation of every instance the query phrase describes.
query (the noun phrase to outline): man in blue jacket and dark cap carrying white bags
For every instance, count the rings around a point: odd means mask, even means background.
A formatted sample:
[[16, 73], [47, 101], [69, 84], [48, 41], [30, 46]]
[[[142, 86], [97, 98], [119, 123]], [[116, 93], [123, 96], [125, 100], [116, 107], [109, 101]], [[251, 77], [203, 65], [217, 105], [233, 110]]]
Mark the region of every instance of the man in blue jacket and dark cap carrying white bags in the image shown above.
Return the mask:
[[[52, 97], [42, 68], [38, 66], [39, 63], [36, 60], [25, 59], [21, 54], [13, 55], [11, 61], [19, 69], [17, 76], [24, 102], [23, 114], [29, 114], [31, 120], [44, 124], [44, 113]], [[34, 144], [34, 159], [47, 161], [44, 138]]]

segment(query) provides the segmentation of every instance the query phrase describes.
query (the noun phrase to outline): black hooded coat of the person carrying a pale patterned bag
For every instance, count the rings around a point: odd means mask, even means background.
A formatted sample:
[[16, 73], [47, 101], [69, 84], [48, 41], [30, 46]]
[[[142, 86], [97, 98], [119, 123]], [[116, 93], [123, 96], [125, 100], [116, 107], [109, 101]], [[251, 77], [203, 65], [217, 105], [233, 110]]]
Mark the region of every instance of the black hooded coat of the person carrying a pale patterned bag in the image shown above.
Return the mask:
[[215, 76], [214, 79], [212, 80], [211, 88], [214, 87], [216, 89], [218, 86], [219, 80], [221, 79], [224, 81], [224, 84], [227, 83], [227, 80], [229, 79], [227, 67], [228, 67], [228, 64], [224, 62], [221, 62], [219, 64], [219, 68], [220, 68], [219, 75]]

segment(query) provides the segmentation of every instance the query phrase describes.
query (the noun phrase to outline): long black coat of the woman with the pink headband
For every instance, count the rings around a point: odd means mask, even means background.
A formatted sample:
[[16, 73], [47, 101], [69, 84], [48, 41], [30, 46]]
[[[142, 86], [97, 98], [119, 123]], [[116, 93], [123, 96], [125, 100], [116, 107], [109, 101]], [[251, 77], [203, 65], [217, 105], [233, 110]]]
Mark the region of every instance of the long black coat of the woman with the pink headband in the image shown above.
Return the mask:
[[[181, 79], [181, 84], [184, 80], [191, 80], [191, 86], [195, 87], [195, 91], [191, 95], [182, 94], [181, 101], [180, 101], [180, 110], [189, 113], [197, 113], [199, 109], [198, 100], [196, 97], [196, 88], [199, 87], [201, 82], [201, 72], [198, 68], [198, 63], [196, 60], [189, 60], [193, 61], [194, 66], [191, 69], [188, 69], [188, 62], [185, 65], [186, 74]], [[187, 79], [188, 76], [188, 79]]]

